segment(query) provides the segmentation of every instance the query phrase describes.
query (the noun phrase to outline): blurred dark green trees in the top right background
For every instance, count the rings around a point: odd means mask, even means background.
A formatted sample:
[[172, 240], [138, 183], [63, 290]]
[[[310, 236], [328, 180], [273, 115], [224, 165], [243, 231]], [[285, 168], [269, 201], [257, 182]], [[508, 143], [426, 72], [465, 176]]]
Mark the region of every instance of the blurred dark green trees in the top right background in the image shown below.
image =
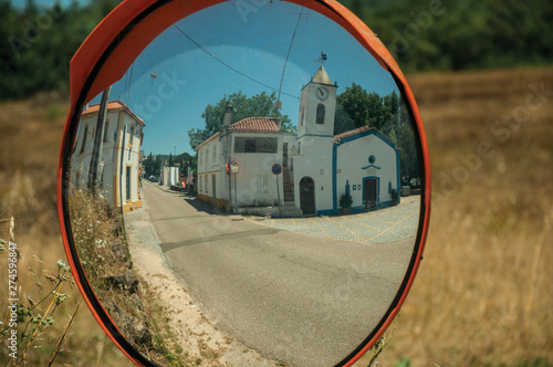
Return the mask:
[[[354, 12], [354, 0], [343, 0]], [[551, 64], [553, 3], [543, 0], [363, 1], [363, 20], [407, 72]], [[549, 40], [549, 42], [547, 42]]]

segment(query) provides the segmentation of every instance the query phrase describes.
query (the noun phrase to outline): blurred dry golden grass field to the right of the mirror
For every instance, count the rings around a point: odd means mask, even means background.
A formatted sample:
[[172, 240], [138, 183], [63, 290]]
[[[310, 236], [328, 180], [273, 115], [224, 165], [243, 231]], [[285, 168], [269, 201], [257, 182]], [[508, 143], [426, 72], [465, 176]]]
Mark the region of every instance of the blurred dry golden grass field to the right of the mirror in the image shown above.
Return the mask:
[[379, 365], [553, 365], [553, 69], [408, 81], [429, 140], [432, 213]]

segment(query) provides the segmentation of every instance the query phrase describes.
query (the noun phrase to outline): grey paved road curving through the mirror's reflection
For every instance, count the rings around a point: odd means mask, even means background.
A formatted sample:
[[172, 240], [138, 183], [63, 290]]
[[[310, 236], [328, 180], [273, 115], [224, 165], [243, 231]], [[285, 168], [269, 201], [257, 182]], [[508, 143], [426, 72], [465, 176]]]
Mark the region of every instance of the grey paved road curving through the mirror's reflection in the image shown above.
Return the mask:
[[332, 366], [357, 347], [394, 298], [414, 245], [270, 228], [152, 184], [143, 198], [161, 250], [206, 316], [292, 366]]

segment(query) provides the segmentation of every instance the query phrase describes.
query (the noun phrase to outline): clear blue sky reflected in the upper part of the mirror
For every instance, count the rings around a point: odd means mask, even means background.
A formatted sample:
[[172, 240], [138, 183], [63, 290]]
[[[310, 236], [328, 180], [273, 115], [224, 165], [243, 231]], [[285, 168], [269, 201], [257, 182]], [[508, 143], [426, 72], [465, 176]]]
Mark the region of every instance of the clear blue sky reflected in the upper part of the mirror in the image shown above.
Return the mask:
[[[298, 123], [301, 90], [321, 65], [321, 52], [327, 54], [324, 67], [338, 94], [352, 83], [380, 95], [397, 92], [372, 55], [325, 17], [283, 1], [249, 9], [236, 4], [213, 6], [169, 27], [113, 85], [109, 99], [121, 98], [146, 124], [146, 154], [191, 153], [187, 133], [204, 128], [208, 104], [238, 91], [252, 96], [278, 90], [302, 11], [282, 78], [282, 113], [292, 124]], [[100, 96], [91, 104], [98, 102]]]

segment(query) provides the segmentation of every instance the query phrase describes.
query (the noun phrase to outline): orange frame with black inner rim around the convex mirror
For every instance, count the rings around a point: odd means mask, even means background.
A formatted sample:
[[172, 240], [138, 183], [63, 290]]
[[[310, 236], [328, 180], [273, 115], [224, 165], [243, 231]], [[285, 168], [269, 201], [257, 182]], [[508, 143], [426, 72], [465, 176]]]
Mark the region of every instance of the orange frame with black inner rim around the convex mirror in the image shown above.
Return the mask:
[[[73, 243], [67, 209], [70, 157], [74, 145], [72, 132], [75, 130], [79, 124], [83, 106], [108, 85], [122, 78], [133, 61], [165, 29], [189, 14], [225, 1], [226, 0], [124, 1], [97, 25], [71, 61], [71, 108], [65, 124], [58, 169], [58, 212], [61, 232], [76, 284], [94, 317], [112, 340], [137, 365], [152, 366], [153, 363], [133, 348], [96, 298], [79, 262], [76, 249]], [[421, 182], [424, 191], [419, 230], [416, 239], [417, 245], [415, 247], [416, 253], [411, 256], [407, 271], [408, 276], [405, 277], [396, 298], [389, 306], [384, 318], [371, 335], [367, 336], [364, 345], [353, 350], [352, 354], [341, 363], [342, 366], [351, 366], [382, 337], [386, 328], [397, 316], [413, 285], [422, 259], [429, 227], [431, 192], [427, 139], [415, 97], [404, 74], [394, 61], [392, 54], [367, 25], [343, 6], [333, 0], [285, 1], [310, 8], [340, 24], [375, 57], [383, 69], [393, 75], [404, 95], [405, 102], [409, 106], [409, 112], [415, 123], [416, 134], [419, 140], [419, 154], [424, 172]]]

